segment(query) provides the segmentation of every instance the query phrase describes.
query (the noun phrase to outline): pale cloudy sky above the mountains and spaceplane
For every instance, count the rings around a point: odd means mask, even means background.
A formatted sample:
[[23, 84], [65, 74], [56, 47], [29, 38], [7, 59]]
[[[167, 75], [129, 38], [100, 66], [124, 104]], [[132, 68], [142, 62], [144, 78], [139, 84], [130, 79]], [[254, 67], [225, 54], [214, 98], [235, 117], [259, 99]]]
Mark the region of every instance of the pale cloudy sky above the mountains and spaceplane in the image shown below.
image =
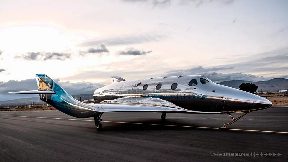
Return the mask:
[[287, 0], [0, 1], [0, 101], [38, 73], [92, 93], [110, 76], [288, 78], [287, 60]]

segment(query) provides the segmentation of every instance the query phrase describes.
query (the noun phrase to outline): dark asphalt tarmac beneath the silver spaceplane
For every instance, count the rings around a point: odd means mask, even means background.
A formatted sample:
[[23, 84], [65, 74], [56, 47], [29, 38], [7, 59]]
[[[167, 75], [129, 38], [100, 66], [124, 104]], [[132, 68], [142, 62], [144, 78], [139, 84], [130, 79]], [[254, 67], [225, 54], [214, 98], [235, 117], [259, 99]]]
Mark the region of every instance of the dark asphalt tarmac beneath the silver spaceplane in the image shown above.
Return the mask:
[[[252, 112], [219, 130], [227, 114], [1, 111], [0, 161], [288, 161], [288, 106]], [[238, 114], [234, 114], [234, 117]], [[270, 154], [269, 154], [270, 153]]]

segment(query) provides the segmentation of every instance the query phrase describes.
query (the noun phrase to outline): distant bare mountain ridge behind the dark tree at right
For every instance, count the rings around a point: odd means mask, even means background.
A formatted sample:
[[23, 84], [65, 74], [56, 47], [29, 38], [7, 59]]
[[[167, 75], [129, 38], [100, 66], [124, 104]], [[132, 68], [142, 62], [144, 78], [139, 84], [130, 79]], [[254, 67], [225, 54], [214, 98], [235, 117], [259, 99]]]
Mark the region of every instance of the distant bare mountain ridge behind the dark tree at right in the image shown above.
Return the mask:
[[254, 83], [255, 85], [258, 86], [258, 90], [262, 90], [262, 91], [276, 92], [278, 90], [285, 90], [285, 89], [288, 90], [288, 79], [284, 79], [284, 78], [274, 78], [271, 80], [265, 80], [265, 81], [259, 81], [259, 82], [250, 82], [246, 80], [230, 80], [230, 81], [224, 81], [218, 84], [239, 89], [239, 86], [242, 83]]

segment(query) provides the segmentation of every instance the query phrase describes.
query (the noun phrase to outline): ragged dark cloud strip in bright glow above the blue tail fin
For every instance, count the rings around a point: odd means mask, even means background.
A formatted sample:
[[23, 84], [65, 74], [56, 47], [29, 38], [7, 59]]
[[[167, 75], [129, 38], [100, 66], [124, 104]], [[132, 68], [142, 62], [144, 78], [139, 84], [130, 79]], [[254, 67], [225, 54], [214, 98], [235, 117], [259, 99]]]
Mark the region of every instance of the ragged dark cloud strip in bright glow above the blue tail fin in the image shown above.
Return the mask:
[[72, 54], [69, 53], [58, 53], [58, 52], [28, 52], [20, 56], [15, 56], [15, 59], [26, 59], [26, 60], [65, 60], [69, 59]]

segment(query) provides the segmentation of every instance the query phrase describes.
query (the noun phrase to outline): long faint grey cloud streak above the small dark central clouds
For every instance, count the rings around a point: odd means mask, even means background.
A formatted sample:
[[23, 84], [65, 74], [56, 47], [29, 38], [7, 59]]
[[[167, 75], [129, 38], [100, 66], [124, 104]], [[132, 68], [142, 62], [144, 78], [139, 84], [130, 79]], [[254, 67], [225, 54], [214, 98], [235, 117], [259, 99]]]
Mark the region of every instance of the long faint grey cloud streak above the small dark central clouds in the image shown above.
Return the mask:
[[163, 39], [163, 35], [157, 34], [143, 34], [143, 35], [131, 35], [131, 36], [119, 36], [112, 38], [95, 38], [80, 44], [80, 46], [95, 46], [101, 43], [106, 45], [124, 45], [124, 44], [141, 44], [147, 42], [154, 42]]

